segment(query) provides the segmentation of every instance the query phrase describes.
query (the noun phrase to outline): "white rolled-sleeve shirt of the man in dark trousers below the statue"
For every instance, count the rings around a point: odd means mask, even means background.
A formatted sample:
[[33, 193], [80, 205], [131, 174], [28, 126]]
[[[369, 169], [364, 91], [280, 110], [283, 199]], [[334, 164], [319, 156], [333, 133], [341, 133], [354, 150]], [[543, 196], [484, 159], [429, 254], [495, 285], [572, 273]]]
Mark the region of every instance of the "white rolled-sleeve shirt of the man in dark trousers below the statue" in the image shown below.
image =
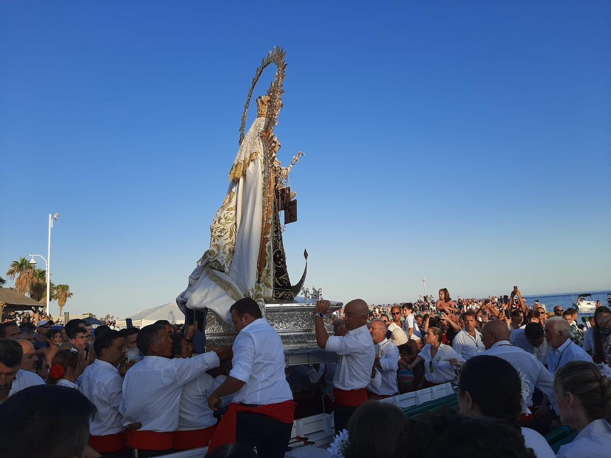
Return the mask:
[[255, 319], [233, 341], [234, 379], [246, 382], [233, 402], [277, 404], [293, 399], [284, 373], [284, 346], [280, 336], [265, 318]]

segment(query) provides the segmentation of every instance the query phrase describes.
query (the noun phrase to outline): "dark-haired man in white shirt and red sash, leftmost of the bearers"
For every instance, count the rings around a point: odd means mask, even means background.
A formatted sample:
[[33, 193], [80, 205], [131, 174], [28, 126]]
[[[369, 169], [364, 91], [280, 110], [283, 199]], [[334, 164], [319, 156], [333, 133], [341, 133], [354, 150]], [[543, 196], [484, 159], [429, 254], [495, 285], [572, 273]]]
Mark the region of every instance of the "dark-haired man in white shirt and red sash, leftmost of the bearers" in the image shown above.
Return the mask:
[[89, 429], [89, 444], [99, 453], [125, 448], [123, 416], [119, 412], [123, 377], [117, 366], [125, 362], [125, 339], [119, 331], [106, 330], [93, 342], [96, 358], [78, 379], [78, 388], [97, 408]]

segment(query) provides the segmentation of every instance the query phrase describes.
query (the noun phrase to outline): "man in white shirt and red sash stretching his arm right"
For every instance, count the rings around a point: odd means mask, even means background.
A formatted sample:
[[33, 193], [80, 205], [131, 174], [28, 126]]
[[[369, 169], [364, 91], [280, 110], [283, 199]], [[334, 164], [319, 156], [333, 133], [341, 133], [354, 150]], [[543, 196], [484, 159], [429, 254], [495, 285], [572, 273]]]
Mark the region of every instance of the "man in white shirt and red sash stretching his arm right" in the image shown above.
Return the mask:
[[231, 352], [222, 347], [192, 358], [170, 359], [172, 338], [162, 324], [143, 327], [136, 343], [145, 356], [125, 374], [119, 412], [123, 426], [141, 423], [141, 429], [127, 432], [125, 443], [139, 451], [139, 458], [148, 458], [172, 450], [183, 386], [219, 366]]

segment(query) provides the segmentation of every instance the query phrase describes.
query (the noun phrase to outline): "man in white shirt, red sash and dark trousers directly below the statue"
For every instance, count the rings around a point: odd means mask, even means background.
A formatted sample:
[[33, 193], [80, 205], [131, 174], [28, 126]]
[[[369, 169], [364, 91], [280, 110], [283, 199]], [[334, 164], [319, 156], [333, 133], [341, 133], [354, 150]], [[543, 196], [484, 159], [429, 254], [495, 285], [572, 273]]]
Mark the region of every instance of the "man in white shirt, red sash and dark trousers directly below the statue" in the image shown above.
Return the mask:
[[208, 398], [217, 410], [221, 397], [233, 394], [212, 440], [212, 451], [225, 443], [257, 447], [259, 456], [282, 458], [295, 416], [293, 393], [284, 373], [284, 346], [257, 302], [249, 297], [229, 308], [238, 336], [233, 341], [229, 376]]

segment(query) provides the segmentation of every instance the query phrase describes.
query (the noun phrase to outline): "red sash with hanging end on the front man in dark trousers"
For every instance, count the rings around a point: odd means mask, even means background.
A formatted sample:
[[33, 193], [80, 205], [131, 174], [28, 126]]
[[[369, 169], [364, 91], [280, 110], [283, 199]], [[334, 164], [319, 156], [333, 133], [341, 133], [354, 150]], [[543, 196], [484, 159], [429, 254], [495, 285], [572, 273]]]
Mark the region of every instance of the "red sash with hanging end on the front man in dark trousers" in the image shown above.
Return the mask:
[[208, 446], [208, 453], [221, 445], [235, 443], [238, 412], [260, 413], [282, 423], [293, 424], [293, 419], [295, 418], [295, 402], [290, 399], [289, 401], [260, 405], [259, 407], [247, 407], [246, 405], [232, 402], [229, 404], [227, 413], [223, 415], [221, 422], [216, 427], [216, 432], [214, 432], [210, 445]]

